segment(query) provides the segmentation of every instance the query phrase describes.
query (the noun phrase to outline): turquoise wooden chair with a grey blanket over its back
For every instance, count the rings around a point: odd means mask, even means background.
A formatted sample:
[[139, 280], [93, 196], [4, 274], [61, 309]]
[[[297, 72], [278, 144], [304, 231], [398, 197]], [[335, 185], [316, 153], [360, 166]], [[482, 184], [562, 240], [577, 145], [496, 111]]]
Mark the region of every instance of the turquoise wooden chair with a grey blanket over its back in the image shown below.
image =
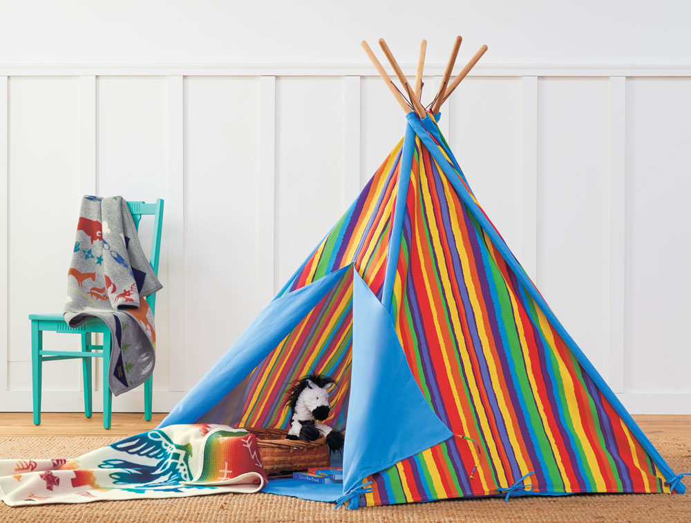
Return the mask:
[[[151, 257], [149, 262], [153, 272], [158, 276], [158, 261], [161, 249], [161, 228], [163, 224], [163, 200], [156, 203], [143, 201], [128, 201], [132, 218], [139, 231], [139, 222], [145, 214], [153, 214], [153, 235], [151, 238]], [[146, 297], [146, 302], [155, 313], [156, 295]], [[91, 358], [103, 360], [103, 428], [111, 428], [111, 404], [113, 394], [108, 387], [108, 369], [111, 365], [111, 331], [101, 320], [88, 320], [82, 326], [72, 329], [68, 327], [61, 314], [30, 314], [31, 320], [31, 368], [34, 394], [34, 424], [41, 424], [41, 378], [45, 361], [82, 359], [82, 374], [84, 377], [84, 415], [91, 418]], [[82, 338], [82, 351], [46, 351], [43, 348], [44, 331], [79, 334]], [[92, 333], [103, 334], [103, 345], [93, 345]], [[104, 350], [106, 347], [106, 350]], [[144, 419], [151, 421], [151, 401], [153, 376], [144, 382]]]

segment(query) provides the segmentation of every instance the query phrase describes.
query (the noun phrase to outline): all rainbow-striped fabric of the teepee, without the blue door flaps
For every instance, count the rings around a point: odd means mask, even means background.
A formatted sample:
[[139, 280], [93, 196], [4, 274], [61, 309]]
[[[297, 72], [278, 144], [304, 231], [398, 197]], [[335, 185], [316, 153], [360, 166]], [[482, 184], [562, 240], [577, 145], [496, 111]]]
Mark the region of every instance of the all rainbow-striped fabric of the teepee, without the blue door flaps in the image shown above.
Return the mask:
[[[406, 138], [272, 303], [297, 300], [325, 277], [335, 284], [196, 421], [287, 428], [287, 388], [316, 371], [339, 380], [327, 423], [346, 428], [354, 271], [389, 312], [422, 395], [454, 434], [368, 472], [359, 504], [670, 492], [672, 470], [489, 221], [434, 118], [414, 113]], [[189, 422], [180, 413], [173, 421]]]

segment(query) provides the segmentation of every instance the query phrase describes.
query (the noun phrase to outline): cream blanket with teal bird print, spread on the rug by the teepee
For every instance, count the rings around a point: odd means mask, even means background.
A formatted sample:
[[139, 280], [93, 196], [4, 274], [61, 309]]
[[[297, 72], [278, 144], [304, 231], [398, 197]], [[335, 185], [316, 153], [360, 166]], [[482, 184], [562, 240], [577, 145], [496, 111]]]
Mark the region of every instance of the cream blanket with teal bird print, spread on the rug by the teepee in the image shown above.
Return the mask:
[[266, 483], [254, 434], [226, 425], [170, 425], [76, 459], [0, 459], [9, 506], [249, 494]]

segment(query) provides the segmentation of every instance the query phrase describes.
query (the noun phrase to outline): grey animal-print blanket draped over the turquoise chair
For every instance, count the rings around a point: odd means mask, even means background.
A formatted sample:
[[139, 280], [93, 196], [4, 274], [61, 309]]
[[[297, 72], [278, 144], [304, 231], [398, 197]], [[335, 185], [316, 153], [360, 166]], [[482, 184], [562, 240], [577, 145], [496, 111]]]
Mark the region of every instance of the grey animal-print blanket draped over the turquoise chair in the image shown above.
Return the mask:
[[115, 396], [153, 372], [156, 333], [144, 297], [161, 288], [122, 196], [84, 196], [67, 276], [65, 321], [79, 327], [99, 318], [108, 325], [108, 385]]

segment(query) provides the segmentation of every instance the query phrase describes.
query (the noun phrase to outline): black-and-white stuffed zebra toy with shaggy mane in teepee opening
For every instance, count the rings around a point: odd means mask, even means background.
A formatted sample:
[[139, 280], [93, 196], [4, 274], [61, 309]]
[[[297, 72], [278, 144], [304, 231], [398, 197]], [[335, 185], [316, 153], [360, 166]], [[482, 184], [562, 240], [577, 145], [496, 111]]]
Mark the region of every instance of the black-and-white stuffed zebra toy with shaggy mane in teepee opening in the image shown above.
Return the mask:
[[321, 374], [310, 374], [292, 385], [286, 402], [292, 412], [287, 439], [314, 441], [321, 435], [331, 452], [343, 452], [343, 433], [321, 423], [329, 417], [329, 392], [336, 385], [335, 380]]

